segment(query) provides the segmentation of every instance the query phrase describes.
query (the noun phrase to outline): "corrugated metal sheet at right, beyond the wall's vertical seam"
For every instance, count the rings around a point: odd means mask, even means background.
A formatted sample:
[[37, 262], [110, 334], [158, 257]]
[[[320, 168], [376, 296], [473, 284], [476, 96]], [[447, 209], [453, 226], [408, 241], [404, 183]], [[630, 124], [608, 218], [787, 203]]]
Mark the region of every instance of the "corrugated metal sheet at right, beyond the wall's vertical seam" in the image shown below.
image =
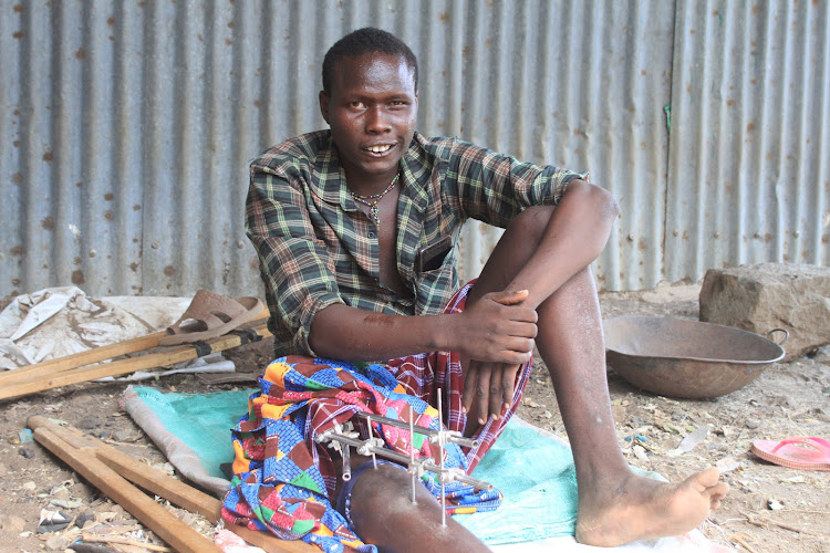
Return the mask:
[[677, 7], [665, 278], [830, 262], [830, 2]]

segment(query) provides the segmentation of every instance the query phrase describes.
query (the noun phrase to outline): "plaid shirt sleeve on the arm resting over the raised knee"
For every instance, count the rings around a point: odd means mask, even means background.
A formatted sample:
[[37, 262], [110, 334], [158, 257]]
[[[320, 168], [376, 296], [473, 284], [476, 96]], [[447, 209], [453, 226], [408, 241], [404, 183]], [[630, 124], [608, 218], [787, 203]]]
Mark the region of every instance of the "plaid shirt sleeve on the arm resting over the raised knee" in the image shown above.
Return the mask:
[[538, 166], [456, 140], [450, 148], [446, 185], [466, 217], [506, 228], [530, 206], [557, 205], [568, 182], [588, 180], [552, 165]]

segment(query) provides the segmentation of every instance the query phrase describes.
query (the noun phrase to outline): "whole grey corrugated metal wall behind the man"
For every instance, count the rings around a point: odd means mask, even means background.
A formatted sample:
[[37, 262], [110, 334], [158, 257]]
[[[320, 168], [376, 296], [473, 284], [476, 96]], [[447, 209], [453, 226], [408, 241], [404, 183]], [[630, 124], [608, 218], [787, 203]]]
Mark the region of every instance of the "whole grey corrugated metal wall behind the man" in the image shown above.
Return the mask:
[[[602, 288], [828, 264], [829, 13], [788, 0], [0, 0], [0, 294], [256, 293], [247, 161], [323, 126], [322, 56], [364, 25], [418, 55], [424, 134], [588, 169], [614, 191]], [[498, 236], [468, 226], [465, 276]]]

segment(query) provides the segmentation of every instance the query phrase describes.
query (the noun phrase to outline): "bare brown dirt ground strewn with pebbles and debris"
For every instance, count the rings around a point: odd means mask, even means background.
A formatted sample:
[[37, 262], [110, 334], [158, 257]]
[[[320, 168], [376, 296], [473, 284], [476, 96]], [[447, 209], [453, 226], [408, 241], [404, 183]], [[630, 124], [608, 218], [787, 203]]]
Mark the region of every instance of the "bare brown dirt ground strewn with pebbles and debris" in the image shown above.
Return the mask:
[[[697, 320], [698, 292], [698, 285], [683, 285], [604, 293], [603, 316], [643, 314]], [[253, 377], [270, 361], [269, 344], [249, 344], [227, 356], [237, 363], [237, 372]], [[176, 392], [250, 386], [206, 384], [193, 375], [165, 377], [155, 385]], [[162, 544], [120, 505], [86, 484], [39, 444], [29, 441], [25, 431], [30, 416], [45, 415], [151, 466], [172, 471], [149, 439], [120, 409], [125, 386], [90, 383], [0, 401], [0, 551], [72, 551], [68, 546], [84, 525], [86, 535], [115, 540], [97, 551], [151, 551], [152, 544]], [[830, 552], [830, 472], [786, 469], [749, 452], [755, 439], [830, 438], [830, 348], [771, 365], [746, 387], [709, 400], [672, 399], [640, 392], [613, 369], [609, 372], [609, 387], [620, 446], [631, 465], [672, 480], [710, 465], [725, 471], [732, 491], [723, 508], [702, 525], [708, 538], [738, 551]], [[519, 415], [566, 436], [550, 377], [540, 362], [533, 368]], [[673, 455], [686, 436], [696, 429], [694, 436], [701, 436], [703, 428], [708, 430], [693, 449]], [[46, 512], [63, 513], [70, 525], [49, 531], [39, 524]], [[205, 535], [214, 532], [204, 519], [176, 512]]]

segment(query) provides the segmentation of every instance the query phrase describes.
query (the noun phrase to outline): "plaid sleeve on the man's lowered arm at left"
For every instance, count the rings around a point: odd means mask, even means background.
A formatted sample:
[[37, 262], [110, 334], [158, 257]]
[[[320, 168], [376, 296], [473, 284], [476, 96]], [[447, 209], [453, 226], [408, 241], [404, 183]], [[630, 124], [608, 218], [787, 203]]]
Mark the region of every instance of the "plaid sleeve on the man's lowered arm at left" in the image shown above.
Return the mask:
[[314, 234], [299, 175], [251, 166], [246, 231], [260, 262], [278, 349], [314, 356], [309, 333], [314, 314], [343, 303], [325, 244]]

